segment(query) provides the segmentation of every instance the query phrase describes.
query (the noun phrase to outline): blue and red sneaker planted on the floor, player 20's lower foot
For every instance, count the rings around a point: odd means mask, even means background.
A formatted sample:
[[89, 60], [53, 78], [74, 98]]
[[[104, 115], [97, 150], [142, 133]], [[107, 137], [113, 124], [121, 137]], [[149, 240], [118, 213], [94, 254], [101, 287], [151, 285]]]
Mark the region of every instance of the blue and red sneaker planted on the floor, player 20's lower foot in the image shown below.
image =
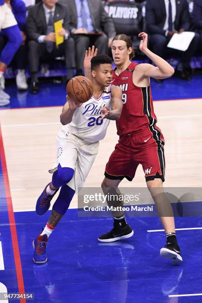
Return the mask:
[[33, 261], [36, 264], [42, 264], [47, 262], [46, 245], [48, 242], [47, 234], [39, 235], [34, 239], [32, 245], [34, 248]]

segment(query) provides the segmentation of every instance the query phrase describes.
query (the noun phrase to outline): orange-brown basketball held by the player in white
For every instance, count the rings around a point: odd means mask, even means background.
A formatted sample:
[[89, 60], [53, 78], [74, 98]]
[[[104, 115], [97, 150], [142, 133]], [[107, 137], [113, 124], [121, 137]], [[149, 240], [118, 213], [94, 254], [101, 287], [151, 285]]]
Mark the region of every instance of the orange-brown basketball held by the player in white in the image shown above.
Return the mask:
[[84, 76], [76, 76], [67, 83], [67, 95], [73, 101], [84, 103], [93, 96], [91, 81]]

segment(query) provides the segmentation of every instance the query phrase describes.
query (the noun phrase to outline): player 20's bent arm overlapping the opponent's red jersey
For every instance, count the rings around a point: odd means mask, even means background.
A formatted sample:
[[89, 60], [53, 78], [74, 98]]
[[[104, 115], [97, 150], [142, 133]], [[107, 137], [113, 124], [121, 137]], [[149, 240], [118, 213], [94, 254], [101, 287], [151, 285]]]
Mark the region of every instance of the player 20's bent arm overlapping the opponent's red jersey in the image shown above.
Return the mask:
[[118, 86], [111, 86], [111, 110], [108, 107], [101, 108], [101, 120], [118, 120], [123, 107], [122, 91]]

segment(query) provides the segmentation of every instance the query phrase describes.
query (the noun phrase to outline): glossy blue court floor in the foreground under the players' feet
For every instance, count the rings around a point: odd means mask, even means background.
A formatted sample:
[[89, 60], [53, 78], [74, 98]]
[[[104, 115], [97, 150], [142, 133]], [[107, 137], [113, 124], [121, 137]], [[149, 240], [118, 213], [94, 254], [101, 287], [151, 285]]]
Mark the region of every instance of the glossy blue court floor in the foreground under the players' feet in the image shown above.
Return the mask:
[[[202, 302], [201, 296], [169, 297], [201, 293], [202, 230], [177, 232], [184, 261], [173, 266], [159, 255], [165, 244], [164, 233], [147, 232], [162, 228], [158, 218], [128, 218], [134, 236], [103, 244], [97, 237], [111, 228], [112, 220], [79, 218], [76, 209], [69, 209], [49, 239], [48, 262], [36, 265], [32, 262], [32, 240], [49, 215], [15, 213], [25, 291], [35, 294], [34, 302]], [[176, 218], [176, 227], [202, 227], [202, 218]], [[0, 228], [4, 231], [6, 226]], [[16, 281], [9, 277], [13, 262], [8, 234], [7, 226], [3, 255], [10, 265], [3, 280], [12, 291]]]

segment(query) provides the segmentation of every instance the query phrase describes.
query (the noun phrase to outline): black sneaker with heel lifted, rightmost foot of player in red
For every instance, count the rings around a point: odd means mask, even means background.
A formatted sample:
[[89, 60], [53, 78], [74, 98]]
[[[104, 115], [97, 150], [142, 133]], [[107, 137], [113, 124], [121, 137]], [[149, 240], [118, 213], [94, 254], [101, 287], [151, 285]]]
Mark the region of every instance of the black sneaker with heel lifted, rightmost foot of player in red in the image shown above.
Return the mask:
[[160, 255], [166, 259], [171, 259], [174, 263], [182, 262], [180, 248], [174, 242], [167, 242], [166, 246], [160, 250]]

